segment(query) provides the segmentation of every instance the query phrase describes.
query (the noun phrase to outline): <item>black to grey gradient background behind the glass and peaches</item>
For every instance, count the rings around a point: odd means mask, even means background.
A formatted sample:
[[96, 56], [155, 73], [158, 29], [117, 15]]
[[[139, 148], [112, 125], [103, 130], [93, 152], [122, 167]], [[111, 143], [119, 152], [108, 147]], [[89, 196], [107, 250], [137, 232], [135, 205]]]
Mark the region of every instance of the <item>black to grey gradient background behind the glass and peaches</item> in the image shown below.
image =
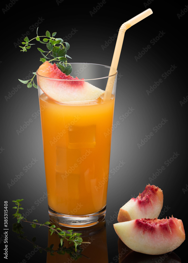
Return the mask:
[[[37, 89], [21, 88], [6, 99], [8, 92], [20, 84], [19, 79], [26, 78], [29, 71], [36, 71], [40, 65], [37, 47], [33, 45], [27, 53], [22, 53], [14, 43], [29, 31], [29, 39], [36, 36], [36, 29], [31, 29], [39, 18], [44, 19], [39, 24], [38, 33], [43, 35], [46, 30], [57, 32], [57, 37], [66, 38], [72, 29], [76, 33], [67, 42], [70, 43], [68, 55], [72, 62], [87, 62], [110, 65], [116, 39], [106, 48], [105, 41], [117, 33], [121, 24], [131, 19], [147, 8], [153, 14], [139, 22], [125, 33], [121, 56], [118, 64], [119, 78], [117, 81], [114, 121], [120, 122], [112, 132], [110, 179], [108, 183], [106, 235], [108, 261], [118, 262], [118, 236], [113, 224], [117, 222], [116, 212], [130, 198], [142, 192], [146, 184], [159, 186], [164, 193], [164, 211], [162, 217], [182, 219], [185, 232], [187, 230], [187, 108], [188, 102], [180, 104], [187, 96], [187, 37], [186, 23], [188, 13], [181, 17], [181, 9], [187, 4], [184, 1], [106, 1], [103, 6], [92, 14], [93, 8], [101, 1], [16, 1], [8, 11], [3, 8], [10, 1], [1, 2], [1, 258], [8, 262], [22, 262], [26, 254], [33, 250], [32, 244], [19, 240], [12, 232], [14, 204], [12, 200], [24, 199], [24, 212], [34, 206], [28, 220], [38, 219], [40, 223], [49, 220], [47, 199], [37, 205], [46, 193], [43, 146], [40, 116], [35, 119], [32, 114], [39, 110]], [[145, 1], [147, 3], [147, 1]], [[11, 5], [10, 5], [11, 6]], [[120, 7], [121, 6], [121, 7]], [[187, 9], [186, 9], [187, 10]], [[32, 32], [33, 30], [33, 32]], [[159, 41], [152, 45], [150, 41], [165, 32]], [[18, 38], [18, 39], [17, 39]], [[151, 48], [136, 61], [135, 56], [142, 48]], [[162, 74], [176, 68], [166, 78]], [[163, 82], [147, 94], [146, 90], [162, 79]], [[128, 108], [133, 112], [124, 119]], [[19, 135], [16, 130], [32, 118], [33, 122]], [[168, 120], [161, 129], [154, 133], [145, 145], [138, 148], [138, 143], [152, 132], [153, 127], [161, 123], [162, 118]], [[179, 156], [167, 167], [165, 161], [173, 156]], [[31, 163], [32, 158], [38, 161], [13, 185], [8, 188], [11, 179], [23, 171], [23, 167]], [[119, 162], [125, 164], [116, 172]], [[152, 174], [165, 166], [165, 170], [151, 181]], [[188, 189], [188, 186], [187, 186]], [[8, 201], [8, 260], [3, 258], [3, 203]], [[41, 199], [42, 200], [42, 199]], [[166, 211], [165, 206], [168, 208]], [[37, 244], [47, 246], [48, 232], [45, 227], [32, 229], [24, 227], [28, 239], [37, 237]], [[92, 244], [91, 244], [92, 245]], [[187, 242], [174, 250], [182, 262], [187, 262]], [[95, 251], [95, 247], [93, 247]], [[87, 250], [85, 250], [87, 252]], [[97, 251], [96, 251], [97, 253]], [[87, 253], [86, 253], [87, 254]], [[13, 257], [12, 257], [13, 256]], [[138, 256], [139, 258], [139, 256]], [[141, 254], [140, 254], [141, 258]], [[155, 259], [156, 260], [156, 259]], [[149, 262], [155, 262], [149, 261]], [[160, 262], [158, 258], [158, 261]], [[166, 260], [166, 259], [165, 259]], [[3, 262], [4, 262], [3, 261]], [[36, 252], [26, 262], [46, 262], [46, 253]], [[55, 262], [55, 261], [52, 261]], [[62, 259], [62, 262], [63, 259]], [[78, 262], [82, 262], [79, 259]], [[88, 262], [93, 262], [92, 258]], [[100, 257], [98, 258], [100, 261]], [[123, 261], [123, 262], [133, 262]], [[135, 261], [134, 261], [135, 262]], [[138, 261], [136, 261], [138, 262]], [[142, 261], [145, 262], [145, 261]], [[167, 261], [162, 261], [167, 262]], [[168, 261], [170, 262], [170, 261]], [[174, 261], [173, 261], [174, 262]]]

